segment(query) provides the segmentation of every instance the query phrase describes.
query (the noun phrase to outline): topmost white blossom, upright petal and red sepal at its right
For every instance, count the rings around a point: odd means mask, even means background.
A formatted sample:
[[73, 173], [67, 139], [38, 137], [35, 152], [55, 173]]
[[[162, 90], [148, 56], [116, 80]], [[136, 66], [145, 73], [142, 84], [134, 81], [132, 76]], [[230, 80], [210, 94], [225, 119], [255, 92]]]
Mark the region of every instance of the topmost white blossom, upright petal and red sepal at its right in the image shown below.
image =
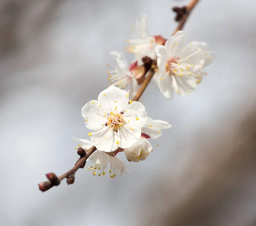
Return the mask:
[[127, 51], [133, 52], [135, 54], [135, 61], [138, 61], [138, 64], [142, 64], [141, 58], [148, 56], [151, 59], [156, 59], [157, 55], [155, 52], [155, 47], [158, 44], [164, 44], [166, 41], [162, 36], [150, 34], [148, 26], [148, 15], [143, 14], [137, 18], [137, 29], [139, 33], [138, 39], [127, 40], [128, 46]]

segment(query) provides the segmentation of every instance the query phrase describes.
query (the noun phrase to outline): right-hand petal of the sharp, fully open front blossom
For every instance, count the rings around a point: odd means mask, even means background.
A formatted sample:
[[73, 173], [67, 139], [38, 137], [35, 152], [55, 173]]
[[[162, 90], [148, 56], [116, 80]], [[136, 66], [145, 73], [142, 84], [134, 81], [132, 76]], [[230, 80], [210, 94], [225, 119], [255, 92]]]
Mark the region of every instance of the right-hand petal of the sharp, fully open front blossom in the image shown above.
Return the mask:
[[[125, 122], [131, 124], [131, 126], [142, 128], [147, 123], [147, 113], [145, 107], [138, 101], [133, 101], [127, 107], [123, 114]], [[129, 121], [129, 122], [128, 122]]]

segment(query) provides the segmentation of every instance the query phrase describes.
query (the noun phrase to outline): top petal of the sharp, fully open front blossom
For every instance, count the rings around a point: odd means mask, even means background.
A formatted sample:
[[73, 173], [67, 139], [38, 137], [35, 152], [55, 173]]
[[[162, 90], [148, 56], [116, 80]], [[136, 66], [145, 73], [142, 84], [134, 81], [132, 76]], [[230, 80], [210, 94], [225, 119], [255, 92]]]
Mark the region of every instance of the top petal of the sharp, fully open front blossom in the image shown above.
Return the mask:
[[129, 103], [128, 96], [125, 90], [110, 86], [99, 94], [98, 101], [108, 112], [114, 112], [115, 107], [117, 111], [122, 112]]

